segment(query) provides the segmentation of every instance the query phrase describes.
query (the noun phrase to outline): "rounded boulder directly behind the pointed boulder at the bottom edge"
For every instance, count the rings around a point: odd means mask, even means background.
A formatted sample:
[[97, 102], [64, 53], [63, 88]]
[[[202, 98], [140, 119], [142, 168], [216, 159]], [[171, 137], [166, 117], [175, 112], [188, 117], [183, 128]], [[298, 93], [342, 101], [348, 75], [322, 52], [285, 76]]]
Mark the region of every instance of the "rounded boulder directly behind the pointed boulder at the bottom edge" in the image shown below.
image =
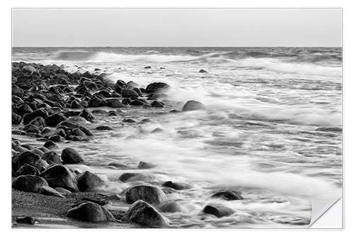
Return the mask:
[[166, 194], [155, 186], [138, 185], [127, 189], [125, 199], [128, 203], [142, 200], [150, 204], [159, 204], [166, 200]]

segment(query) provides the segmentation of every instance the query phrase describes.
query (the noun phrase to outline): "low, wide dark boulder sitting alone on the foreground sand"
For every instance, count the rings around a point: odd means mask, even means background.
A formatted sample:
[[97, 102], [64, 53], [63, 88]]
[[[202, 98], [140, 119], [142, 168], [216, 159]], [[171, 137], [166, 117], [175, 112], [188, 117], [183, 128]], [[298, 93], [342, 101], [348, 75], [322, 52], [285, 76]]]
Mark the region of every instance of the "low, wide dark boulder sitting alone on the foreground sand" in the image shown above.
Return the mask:
[[107, 209], [91, 202], [81, 203], [79, 206], [70, 209], [67, 216], [87, 222], [116, 221], [112, 213]]

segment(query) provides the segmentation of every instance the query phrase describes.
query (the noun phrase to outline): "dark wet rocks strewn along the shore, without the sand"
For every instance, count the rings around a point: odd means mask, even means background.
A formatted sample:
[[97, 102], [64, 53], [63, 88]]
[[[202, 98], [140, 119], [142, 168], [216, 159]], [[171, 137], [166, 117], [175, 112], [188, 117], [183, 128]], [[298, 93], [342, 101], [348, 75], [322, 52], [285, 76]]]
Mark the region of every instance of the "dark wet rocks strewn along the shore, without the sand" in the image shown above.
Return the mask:
[[[99, 176], [89, 171], [69, 169], [66, 164], [85, 162], [76, 150], [67, 147], [59, 155], [56, 142], [82, 141], [93, 138], [85, 123], [95, 121], [88, 108], [108, 106], [125, 108], [127, 106], [164, 107], [161, 100], [169, 85], [162, 82], [138, 88], [135, 82], [118, 80], [116, 83], [106, 79], [105, 74], [69, 73], [57, 65], [12, 64], [12, 123], [18, 125], [13, 134], [30, 135], [44, 142], [42, 147], [21, 145], [16, 139], [12, 142], [12, 188], [64, 198], [67, 194], [95, 191], [105, 186]], [[188, 101], [182, 111], [205, 110], [199, 101]], [[176, 111], [176, 110], [173, 110]], [[99, 110], [97, 113], [101, 112]], [[111, 114], [111, 115], [109, 115]], [[114, 116], [110, 112], [108, 116]], [[135, 120], [125, 118], [122, 122]], [[98, 126], [97, 130], [110, 130], [108, 126]], [[139, 162], [137, 169], [154, 168], [154, 164]], [[124, 173], [119, 179], [129, 182], [139, 177], [139, 173]], [[130, 186], [120, 195], [127, 203], [132, 203], [124, 217], [135, 223], [147, 226], [166, 226], [169, 220], [161, 212], [181, 210], [177, 203], [168, 201], [168, 194], [190, 189], [185, 183], [166, 181], [161, 186], [140, 184]], [[227, 201], [241, 200], [240, 193], [219, 191], [212, 198]], [[204, 213], [217, 217], [229, 215], [233, 210], [222, 206], [205, 206]], [[67, 216], [90, 222], [116, 221], [109, 210], [98, 203], [84, 201], [74, 206]], [[18, 219], [18, 223], [33, 224], [30, 218]]]

